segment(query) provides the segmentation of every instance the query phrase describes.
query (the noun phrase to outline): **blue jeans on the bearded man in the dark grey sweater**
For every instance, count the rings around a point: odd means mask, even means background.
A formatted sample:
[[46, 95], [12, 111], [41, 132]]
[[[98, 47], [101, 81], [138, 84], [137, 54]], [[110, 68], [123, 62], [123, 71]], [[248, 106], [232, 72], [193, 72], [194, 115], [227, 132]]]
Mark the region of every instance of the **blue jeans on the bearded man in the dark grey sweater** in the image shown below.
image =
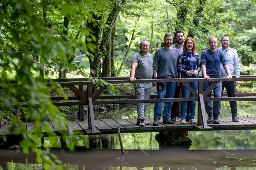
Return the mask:
[[[166, 92], [165, 98], [168, 98], [168, 99], [173, 98], [176, 82], [165, 82], [164, 84], [165, 84], [165, 90], [163, 91], [157, 90], [157, 99], [163, 99], [163, 97], [165, 96], [165, 92]], [[162, 102], [155, 103], [154, 119], [160, 120], [162, 106], [163, 106]], [[165, 108], [163, 109], [164, 119], [168, 119], [170, 117], [171, 107], [172, 107], [172, 102], [165, 102]]]

